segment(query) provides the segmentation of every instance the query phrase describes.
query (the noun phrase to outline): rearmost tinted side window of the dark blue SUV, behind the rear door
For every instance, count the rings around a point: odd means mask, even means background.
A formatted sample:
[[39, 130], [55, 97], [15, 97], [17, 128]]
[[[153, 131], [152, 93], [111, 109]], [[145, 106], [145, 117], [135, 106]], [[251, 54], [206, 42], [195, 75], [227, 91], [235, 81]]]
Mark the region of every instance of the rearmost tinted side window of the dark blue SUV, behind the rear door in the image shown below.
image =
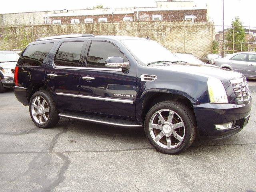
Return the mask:
[[22, 52], [21, 60], [18, 66], [40, 66], [44, 59], [48, 56], [54, 43], [42, 43], [29, 45], [24, 52]]

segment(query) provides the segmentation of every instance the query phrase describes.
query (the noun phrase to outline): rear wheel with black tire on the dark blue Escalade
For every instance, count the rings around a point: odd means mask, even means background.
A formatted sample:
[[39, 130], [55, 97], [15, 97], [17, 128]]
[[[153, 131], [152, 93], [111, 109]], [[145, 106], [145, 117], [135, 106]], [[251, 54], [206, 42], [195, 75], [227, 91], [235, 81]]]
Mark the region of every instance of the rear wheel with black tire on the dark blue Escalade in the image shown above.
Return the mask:
[[[41, 108], [39, 108], [39, 106], [41, 106]], [[40, 112], [42, 113], [41, 115]], [[34, 124], [40, 128], [50, 128], [56, 125], [60, 120], [60, 117], [58, 116], [58, 110], [54, 105], [52, 96], [46, 90], [37, 91], [31, 96], [29, 102], [29, 113]]]

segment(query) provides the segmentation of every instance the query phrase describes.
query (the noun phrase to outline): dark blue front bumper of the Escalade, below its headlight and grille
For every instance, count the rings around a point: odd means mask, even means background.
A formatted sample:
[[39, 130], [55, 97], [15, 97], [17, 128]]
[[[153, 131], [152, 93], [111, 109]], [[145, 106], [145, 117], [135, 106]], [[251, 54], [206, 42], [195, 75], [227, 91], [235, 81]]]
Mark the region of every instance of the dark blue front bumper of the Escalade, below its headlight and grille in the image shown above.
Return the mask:
[[[207, 139], [222, 139], [232, 136], [246, 126], [250, 118], [252, 103], [212, 104], [204, 103], [193, 105], [199, 135]], [[227, 130], [216, 130], [215, 125], [233, 122]]]

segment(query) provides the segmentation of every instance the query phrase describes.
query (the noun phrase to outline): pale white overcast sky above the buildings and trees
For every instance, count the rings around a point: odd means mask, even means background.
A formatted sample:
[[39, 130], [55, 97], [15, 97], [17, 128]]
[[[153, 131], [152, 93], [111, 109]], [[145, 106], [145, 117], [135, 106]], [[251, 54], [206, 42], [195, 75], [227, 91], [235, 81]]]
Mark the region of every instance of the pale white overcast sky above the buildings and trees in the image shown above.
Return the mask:
[[[210, 20], [213, 20], [215, 25], [222, 26], [223, 0], [194, 1], [197, 6], [206, 6], [207, 4], [209, 7]], [[255, 14], [253, 14], [256, 9], [256, 0], [224, 0], [224, 2], [224, 25], [231, 25], [232, 19], [238, 16], [244, 26], [255, 27], [254, 29], [256, 29]], [[156, 6], [156, 0], [44, 0], [40, 2], [34, 0], [10, 0], [1, 3], [0, 14], [62, 9], [86, 9], [101, 4], [104, 8], [154, 7]]]

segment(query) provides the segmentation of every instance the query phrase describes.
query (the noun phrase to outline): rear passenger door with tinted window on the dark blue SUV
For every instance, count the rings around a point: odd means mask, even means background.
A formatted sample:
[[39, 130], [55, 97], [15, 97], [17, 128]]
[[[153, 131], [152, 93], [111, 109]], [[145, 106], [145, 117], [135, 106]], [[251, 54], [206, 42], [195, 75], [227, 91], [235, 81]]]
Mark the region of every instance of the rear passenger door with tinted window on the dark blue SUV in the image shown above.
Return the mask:
[[82, 50], [87, 41], [60, 42], [52, 60], [46, 68], [45, 83], [53, 91], [53, 98], [60, 110], [81, 111], [79, 74], [82, 66]]

